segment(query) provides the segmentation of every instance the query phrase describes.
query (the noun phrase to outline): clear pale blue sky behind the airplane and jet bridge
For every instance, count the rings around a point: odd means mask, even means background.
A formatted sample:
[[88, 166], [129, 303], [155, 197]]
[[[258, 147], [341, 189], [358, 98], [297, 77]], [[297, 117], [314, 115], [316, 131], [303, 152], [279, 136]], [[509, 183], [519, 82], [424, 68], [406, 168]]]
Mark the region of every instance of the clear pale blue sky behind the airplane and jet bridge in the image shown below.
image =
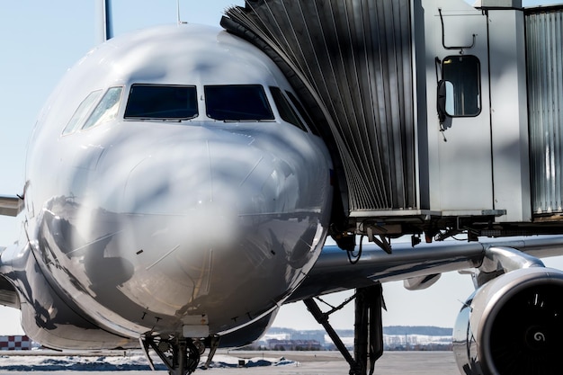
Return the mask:
[[[176, 21], [175, 0], [116, 0], [115, 33]], [[471, 1], [468, 1], [471, 3]], [[524, 5], [550, 4], [524, 1]], [[182, 21], [219, 26], [223, 10], [243, 0], [181, 2]], [[58, 80], [94, 47], [94, 0], [3, 1], [0, 3], [0, 192], [22, 191], [25, 147], [35, 117]], [[53, 178], [56, 178], [54, 176]], [[17, 238], [14, 219], [0, 218], [0, 245]], [[469, 277], [444, 275], [427, 291], [407, 292], [386, 285], [389, 313], [385, 325], [451, 326], [461, 303], [472, 291]], [[416, 314], [412, 311], [416, 310]], [[408, 313], [407, 313], [408, 311]], [[352, 327], [351, 309], [334, 317], [335, 326]], [[300, 304], [282, 308], [275, 326], [316, 328]], [[19, 313], [0, 308], [0, 335], [21, 333]]]

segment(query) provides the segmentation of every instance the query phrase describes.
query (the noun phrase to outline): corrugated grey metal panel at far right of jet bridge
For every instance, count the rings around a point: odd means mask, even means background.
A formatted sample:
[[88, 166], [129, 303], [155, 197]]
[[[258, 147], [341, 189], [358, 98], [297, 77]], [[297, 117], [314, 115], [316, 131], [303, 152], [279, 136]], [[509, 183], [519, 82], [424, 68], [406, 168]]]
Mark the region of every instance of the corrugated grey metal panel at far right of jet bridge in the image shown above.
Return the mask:
[[526, 13], [532, 210], [563, 212], [563, 6]]

